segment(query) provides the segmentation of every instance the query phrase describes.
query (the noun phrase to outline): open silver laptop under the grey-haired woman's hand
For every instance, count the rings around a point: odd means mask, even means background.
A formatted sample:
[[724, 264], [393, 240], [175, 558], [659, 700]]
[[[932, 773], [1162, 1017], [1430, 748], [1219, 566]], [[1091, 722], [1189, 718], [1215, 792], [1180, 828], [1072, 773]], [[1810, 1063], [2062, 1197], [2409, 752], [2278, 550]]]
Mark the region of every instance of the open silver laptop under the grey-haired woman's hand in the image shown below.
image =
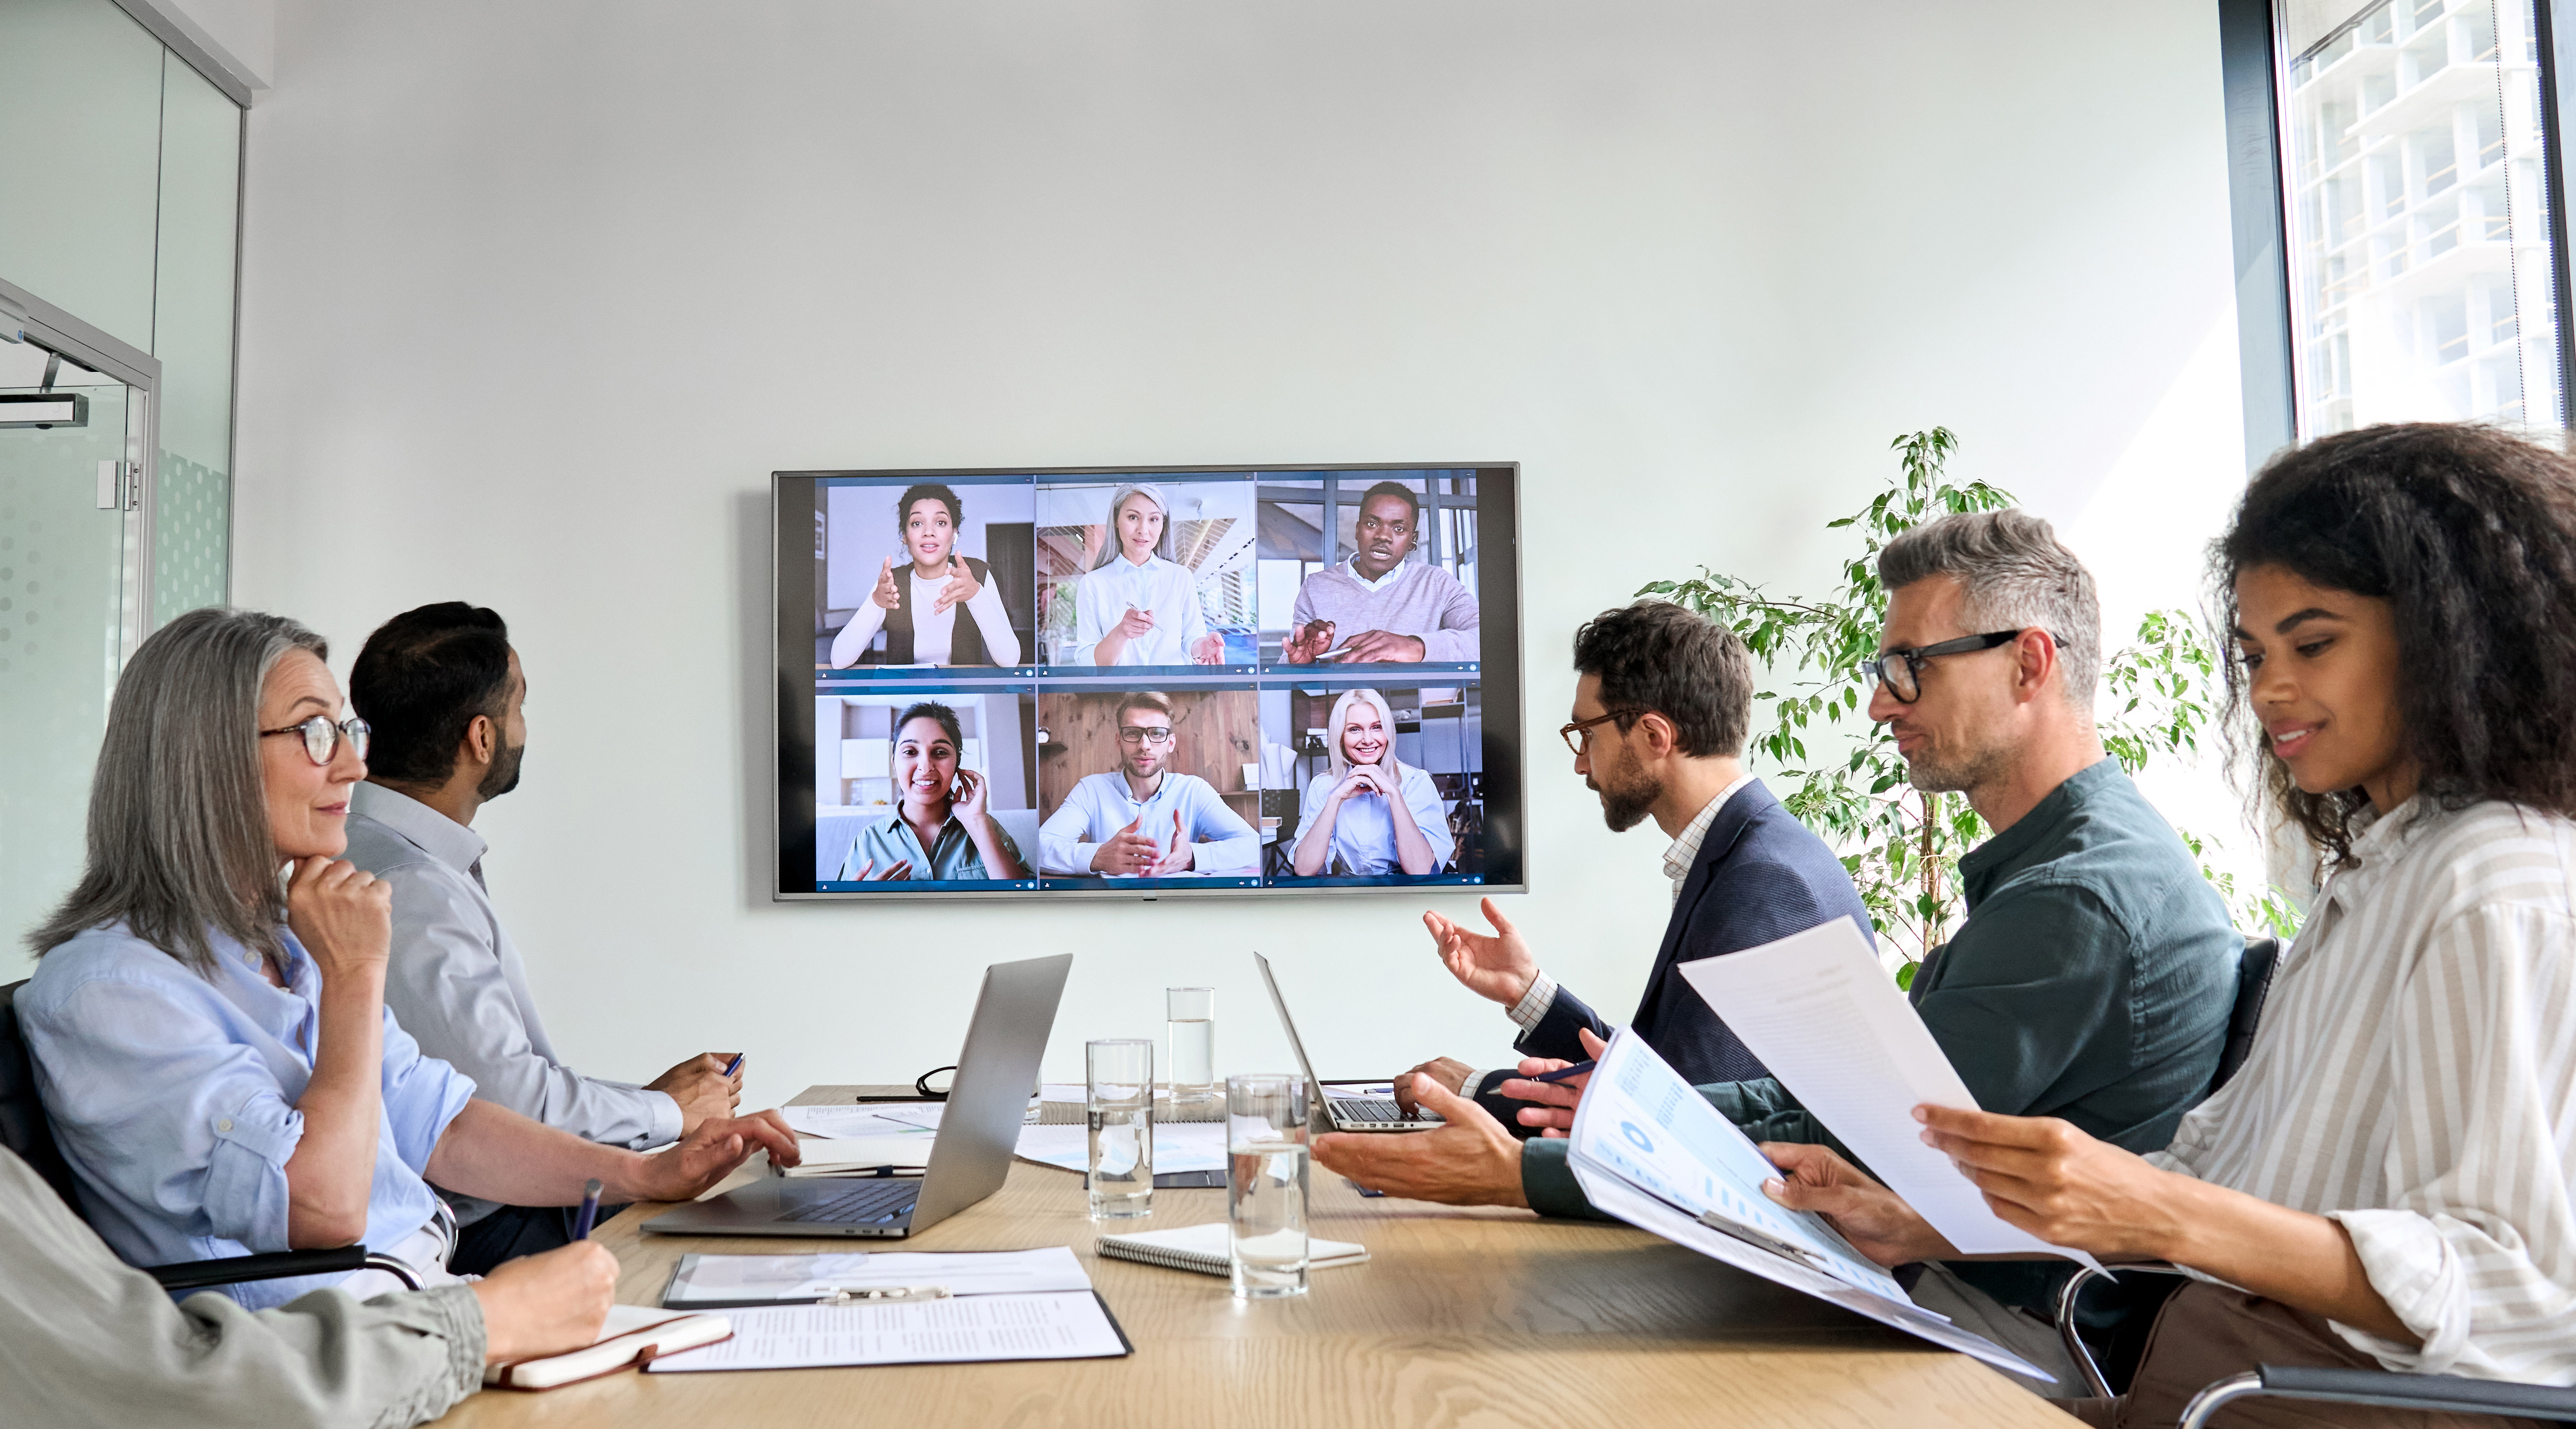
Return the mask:
[[930, 1143], [930, 1169], [912, 1177], [762, 1177], [714, 1200], [654, 1215], [662, 1236], [876, 1236], [896, 1238], [948, 1220], [1002, 1190], [1020, 1146], [1028, 1089], [1038, 1084], [1046, 1035], [1074, 955], [994, 963], [966, 1027], [958, 1076]]

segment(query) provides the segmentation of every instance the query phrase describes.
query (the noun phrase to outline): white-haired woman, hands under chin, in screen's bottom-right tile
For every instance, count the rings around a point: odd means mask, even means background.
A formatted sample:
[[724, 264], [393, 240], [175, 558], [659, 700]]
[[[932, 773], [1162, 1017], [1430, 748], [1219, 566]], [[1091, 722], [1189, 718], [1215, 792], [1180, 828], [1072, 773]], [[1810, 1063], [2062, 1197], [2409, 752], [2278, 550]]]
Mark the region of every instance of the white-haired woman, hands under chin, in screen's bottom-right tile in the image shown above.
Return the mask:
[[1298, 878], [1334, 873], [1350, 878], [1388, 873], [1440, 873], [1458, 839], [1440, 811], [1432, 778], [1396, 762], [1396, 716], [1386, 695], [1347, 690], [1332, 703], [1332, 770], [1306, 785], [1296, 839]]

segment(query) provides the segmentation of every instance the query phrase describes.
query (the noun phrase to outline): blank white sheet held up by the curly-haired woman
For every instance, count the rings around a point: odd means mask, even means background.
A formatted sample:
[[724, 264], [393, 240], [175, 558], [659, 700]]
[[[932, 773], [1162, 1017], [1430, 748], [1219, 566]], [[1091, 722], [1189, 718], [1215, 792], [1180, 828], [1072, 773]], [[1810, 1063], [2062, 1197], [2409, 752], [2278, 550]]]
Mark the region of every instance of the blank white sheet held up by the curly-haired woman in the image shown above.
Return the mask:
[[1690, 986], [1762, 1066], [1960, 1254], [2045, 1251], [2099, 1264], [2007, 1223], [1947, 1156], [1917, 1105], [1978, 1110], [1958, 1069], [1852, 919], [1682, 963]]

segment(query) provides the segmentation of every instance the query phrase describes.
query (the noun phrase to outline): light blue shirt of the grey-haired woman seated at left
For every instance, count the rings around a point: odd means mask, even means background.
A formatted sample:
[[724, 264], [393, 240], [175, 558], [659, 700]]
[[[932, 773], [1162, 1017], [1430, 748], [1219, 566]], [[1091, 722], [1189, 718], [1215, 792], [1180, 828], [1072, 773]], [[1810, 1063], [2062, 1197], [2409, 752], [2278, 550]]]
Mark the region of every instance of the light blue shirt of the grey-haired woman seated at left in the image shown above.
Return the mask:
[[[322, 976], [304, 945], [283, 937], [283, 989], [229, 937], [214, 940], [214, 978], [204, 978], [124, 924], [62, 942], [18, 989], [54, 1141], [82, 1213], [126, 1264], [291, 1249], [286, 1159], [304, 1138], [296, 1099], [314, 1069]], [[394, 1246], [430, 1223], [438, 1197], [420, 1174], [471, 1097], [464, 1074], [420, 1056], [384, 1014], [368, 1246]], [[304, 1275], [224, 1293], [265, 1311], [340, 1280]]]

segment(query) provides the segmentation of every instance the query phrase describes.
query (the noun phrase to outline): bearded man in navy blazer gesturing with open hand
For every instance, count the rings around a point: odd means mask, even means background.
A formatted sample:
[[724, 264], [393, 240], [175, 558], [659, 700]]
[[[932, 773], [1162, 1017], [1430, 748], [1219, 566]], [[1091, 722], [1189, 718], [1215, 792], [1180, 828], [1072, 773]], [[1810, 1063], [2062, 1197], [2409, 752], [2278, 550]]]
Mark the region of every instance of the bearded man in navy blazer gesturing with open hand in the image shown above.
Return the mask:
[[[1638, 600], [1574, 633], [1574, 669], [1582, 680], [1574, 721], [1564, 729], [1574, 772], [1600, 796], [1613, 829], [1651, 816], [1672, 837], [1664, 850], [1672, 919], [1628, 1025], [1692, 1084], [1767, 1076], [1682, 981], [1682, 963], [1759, 948], [1834, 917], [1850, 917], [1868, 937], [1870, 914], [1834, 850], [1744, 772], [1752, 657], [1726, 626], [1664, 600]], [[1517, 1053], [1582, 1061], [1577, 1030], [1607, 1038], [1610, 1022], [1538, 968], [1494, 899], [1484, 901], [1484, 917], [1494, 932], [1440, 914], [1422, 914], [1422, 922], [1448, 971], [1512, 1012]], [[1504, 1076], [1517, 1074], [1437, 1058], [1396, 1079], [1396, 1099], [1412, 1105], [1417, 1079], [1430, 1079], [1530, 1135], [1535, 1128], [1517, 1115], [1522, 1102], [1492, 1089]]]

